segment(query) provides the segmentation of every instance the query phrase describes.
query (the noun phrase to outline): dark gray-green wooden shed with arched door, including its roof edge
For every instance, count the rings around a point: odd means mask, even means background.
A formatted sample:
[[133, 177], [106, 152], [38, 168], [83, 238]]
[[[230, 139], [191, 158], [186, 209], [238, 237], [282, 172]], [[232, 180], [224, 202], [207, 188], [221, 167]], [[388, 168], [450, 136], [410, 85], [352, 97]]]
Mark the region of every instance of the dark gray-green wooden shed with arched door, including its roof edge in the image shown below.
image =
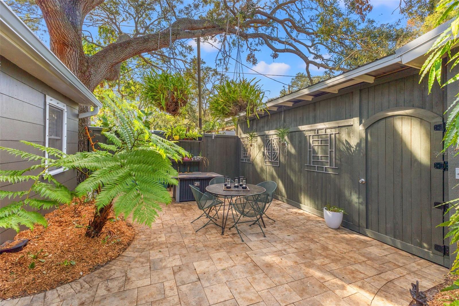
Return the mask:
[[[451, 191], [457, 159], [441, 153], [443, 113], [457, 86], [428, 94], [426, 80], [419, 83], [424, 54], [445, 27], [268, 102], [269, 114], [250, 126], [240, 121], [241, 175], [277, 182], [276, 198], [316, 215], [326, 204], [340, 206], [343, 226], [448, 266], [446, 230], [437, 227], [443, 210], [434, 206], [459, 198]], [[453, 73], [445, 69], [442, 77]], [[284, 126], [291, 131], [287, 154], [274, 136]], [[258, 135], [249, 156], [248, 131]]]

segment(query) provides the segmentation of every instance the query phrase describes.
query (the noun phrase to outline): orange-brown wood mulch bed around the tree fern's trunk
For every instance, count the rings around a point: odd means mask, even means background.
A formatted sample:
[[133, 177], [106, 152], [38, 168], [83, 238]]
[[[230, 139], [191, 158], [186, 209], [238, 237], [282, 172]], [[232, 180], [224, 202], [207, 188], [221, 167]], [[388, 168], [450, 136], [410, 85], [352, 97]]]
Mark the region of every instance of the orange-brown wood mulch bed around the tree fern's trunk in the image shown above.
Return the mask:
[[[134, 228], [111, 213], [100, 237], [84, 236], [95, 206], [61, 206], [45, 217], [48, 227], [20, 232], [30, 241], [17, 253], [0, 255], [0, 299], [17, 298], [46, 290], [92, 272], [115, 259], [134, 239]], [[34, 264], [32, 264], [34, 262]]]

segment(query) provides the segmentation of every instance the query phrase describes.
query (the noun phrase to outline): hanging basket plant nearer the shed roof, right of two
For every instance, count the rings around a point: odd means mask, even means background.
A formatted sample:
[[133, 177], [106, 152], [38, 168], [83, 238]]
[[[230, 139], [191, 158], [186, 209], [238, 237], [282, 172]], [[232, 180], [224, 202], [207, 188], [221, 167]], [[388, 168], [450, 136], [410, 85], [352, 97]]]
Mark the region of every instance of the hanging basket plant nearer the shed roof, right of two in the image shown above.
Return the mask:
[[215, 86], [209, 98], [209, 110], [217, 118], [233, 118], [244, 113], [246, 118], [265, 110], [264, 91], [255, 79], [225, 80]]

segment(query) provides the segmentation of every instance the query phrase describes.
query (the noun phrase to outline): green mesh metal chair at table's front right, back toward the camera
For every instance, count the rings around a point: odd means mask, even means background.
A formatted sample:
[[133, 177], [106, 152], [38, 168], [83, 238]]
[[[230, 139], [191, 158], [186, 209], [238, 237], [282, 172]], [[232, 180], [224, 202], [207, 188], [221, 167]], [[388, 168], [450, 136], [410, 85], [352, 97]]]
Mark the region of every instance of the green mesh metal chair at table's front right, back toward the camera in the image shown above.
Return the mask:
[[[234, 220], [234, 225], [232, 227], [236, 227], [236, 231], [239, 234], [239, 237], [241, 237], [242, 242], [244, 242], [244, 239], [242, 239], [241, 231], [239, 230], [237, 225], [239, 223], [253, 222], [253, 220], [240, 221], [241, 217], [257, 218], [255, 220], [255, 223], [258, 224], [258, 226], [261, 229], [261, 232], [263, 232], [263, 228], [261, 227], [259, 220], [260, 220], [260, 216], [263, 215], [267, 202], [268, 202], [268, 194], [258, 193], [258, 194], [252, 194], [252, 195], [238, 198], [232, 205], [231, 211], [234, 209], [236, 212], [240, 214], [239, 219], [237, 219], [237, 221], [234, 216], [234, 213], [232, 214], [233, 220]], [[232, 227], [230, 227], [230, 229]], [[263, 232], [263, 237], [266, 237], [264, 232]]]

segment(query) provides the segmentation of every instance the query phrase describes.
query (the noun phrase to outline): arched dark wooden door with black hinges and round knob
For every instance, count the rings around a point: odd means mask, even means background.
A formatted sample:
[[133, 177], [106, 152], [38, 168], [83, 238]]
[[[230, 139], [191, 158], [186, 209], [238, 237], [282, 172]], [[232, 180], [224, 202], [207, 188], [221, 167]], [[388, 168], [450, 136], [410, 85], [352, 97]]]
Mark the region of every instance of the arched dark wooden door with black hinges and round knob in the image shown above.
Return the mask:
[[361, 232], [443, 264], [443, 211], [434, 207], [443, 201], [443, 170], [434, 167], [443, 160], [440, 126], [442, 117], [420, 108], [364, 120], [359, 209]]

